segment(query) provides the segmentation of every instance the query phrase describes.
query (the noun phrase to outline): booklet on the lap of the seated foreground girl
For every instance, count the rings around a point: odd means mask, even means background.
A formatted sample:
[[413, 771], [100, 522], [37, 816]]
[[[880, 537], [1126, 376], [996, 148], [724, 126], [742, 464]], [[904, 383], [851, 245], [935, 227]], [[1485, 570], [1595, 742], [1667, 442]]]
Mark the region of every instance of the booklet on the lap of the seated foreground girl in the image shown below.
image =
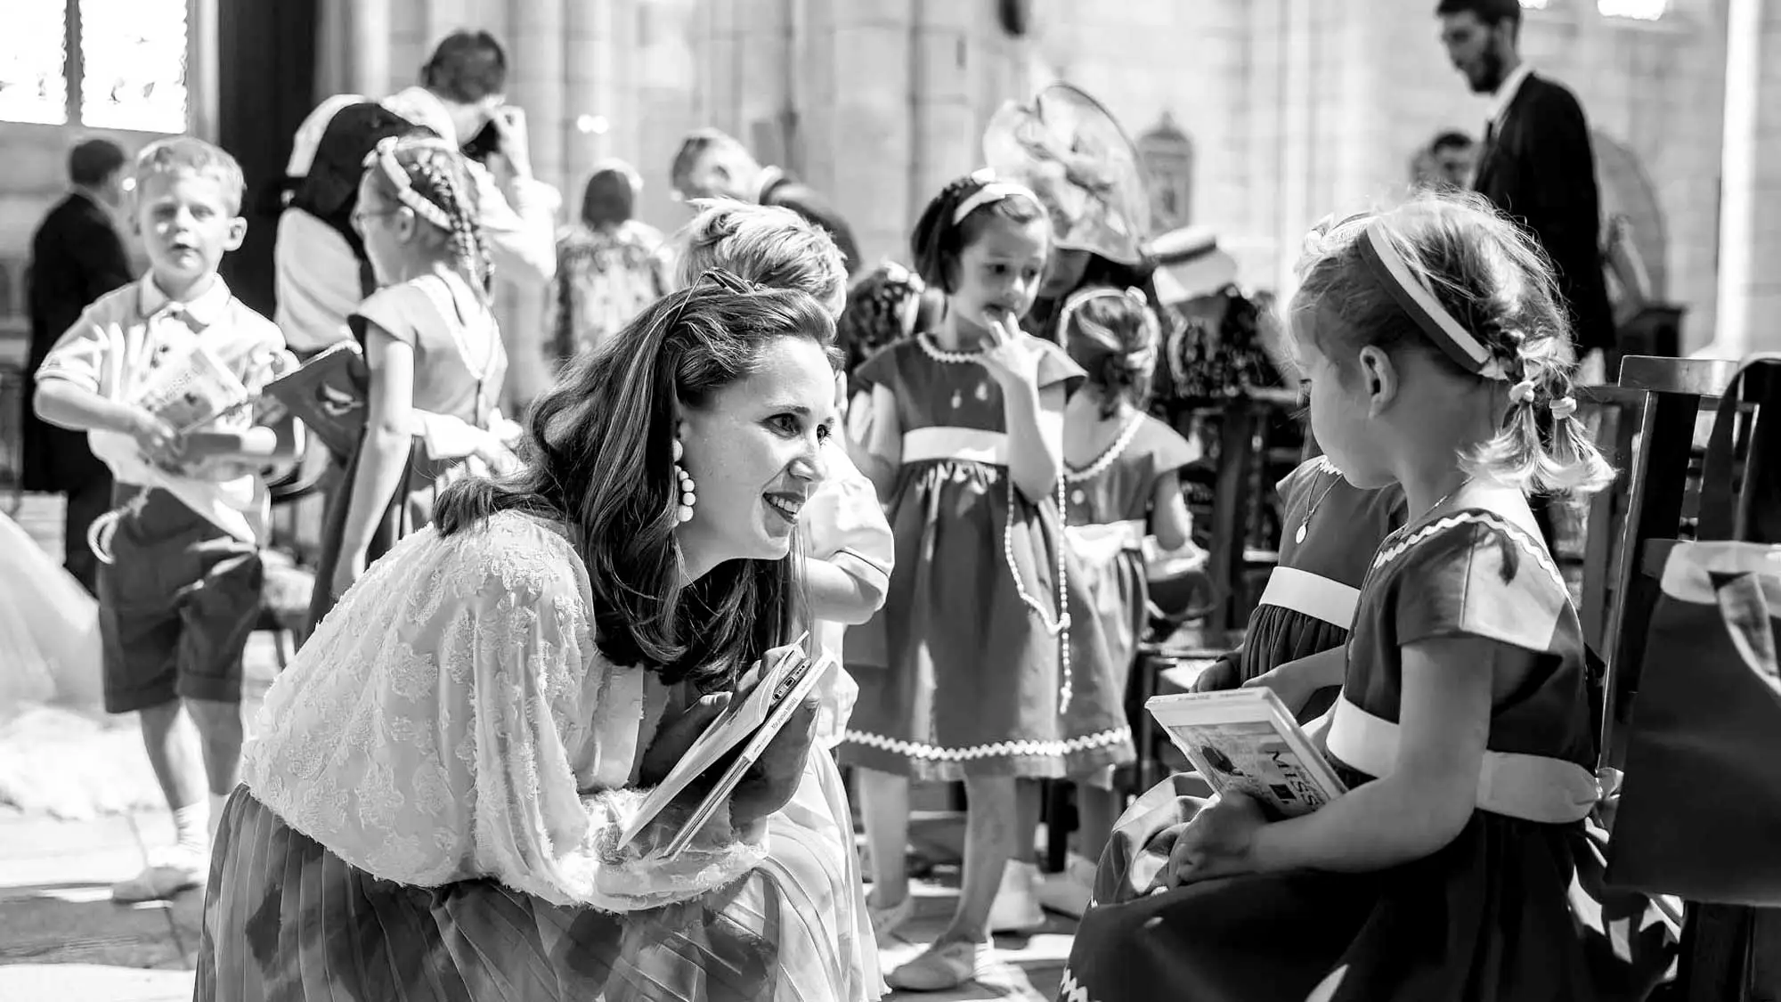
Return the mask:
[[1143, 708], [1215, 792], [1254, 797], [1273, 818], [1348, 792], [1272, 688], [1158, 695]]

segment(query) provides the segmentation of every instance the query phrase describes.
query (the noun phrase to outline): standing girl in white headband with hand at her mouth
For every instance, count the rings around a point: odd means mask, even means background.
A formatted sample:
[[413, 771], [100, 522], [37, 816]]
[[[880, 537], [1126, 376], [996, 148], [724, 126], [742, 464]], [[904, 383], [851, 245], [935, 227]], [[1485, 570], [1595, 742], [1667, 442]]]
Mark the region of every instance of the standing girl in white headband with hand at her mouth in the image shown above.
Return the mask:
[[841, 751], [860, 767], [882, 938], [914, 911], [908, 781], [965, 783], [958, 911], [889, 977], [937, 991], [994, 966], [992, 931], [1044, 922], [1038, 870], [1021, 859], [1038, 825], [1037, 779], [1074, 772], [1060, 727], [1070, 670], [1058, 469], [1063, 401], [1083, 371], [1019, 328], [1051, 246], [1029, 189], [958, 178], [923, 210], [912, 244], [946, 316], [855, 373], [871, 394], [857, 458], [887, 503], [896, 563], [883, 610], [848, 635], [860, 699]]

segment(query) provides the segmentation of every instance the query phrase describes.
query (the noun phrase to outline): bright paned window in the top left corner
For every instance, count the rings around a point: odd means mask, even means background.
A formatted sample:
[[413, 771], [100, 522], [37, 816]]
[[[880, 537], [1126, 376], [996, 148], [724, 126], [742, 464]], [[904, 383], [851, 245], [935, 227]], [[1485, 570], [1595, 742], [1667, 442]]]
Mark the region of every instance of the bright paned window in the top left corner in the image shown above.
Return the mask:
[[0, 32], [0, 121], [185, 132], [187, 0], [32, 0]]

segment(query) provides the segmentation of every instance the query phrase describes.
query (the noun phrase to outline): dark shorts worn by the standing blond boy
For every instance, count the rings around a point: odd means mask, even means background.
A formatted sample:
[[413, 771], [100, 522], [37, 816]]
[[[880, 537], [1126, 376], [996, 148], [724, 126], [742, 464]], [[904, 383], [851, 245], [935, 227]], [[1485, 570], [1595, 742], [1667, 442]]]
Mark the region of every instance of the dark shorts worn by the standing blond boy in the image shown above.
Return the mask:
[[[119, 483], [114, 505], [141, 489]], [[118, 521], [100, 567], [105, 711], [175, 699], [240, 702], [242, 653], [260, 619], [260, 551], [166, 490]]]

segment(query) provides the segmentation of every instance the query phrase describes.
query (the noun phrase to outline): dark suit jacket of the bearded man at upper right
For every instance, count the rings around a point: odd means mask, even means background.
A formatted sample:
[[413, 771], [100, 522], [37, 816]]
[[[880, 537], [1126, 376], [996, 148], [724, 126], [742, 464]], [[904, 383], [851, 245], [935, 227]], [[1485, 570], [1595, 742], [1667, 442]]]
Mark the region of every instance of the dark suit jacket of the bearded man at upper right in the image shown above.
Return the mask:
[[1558, 267], [1578, 351], [1614, 346], [1601, 264], [1601, 193], [1576, 94], [1528, 75], [1478, 157], [1473, 187], [1533, 234]]

